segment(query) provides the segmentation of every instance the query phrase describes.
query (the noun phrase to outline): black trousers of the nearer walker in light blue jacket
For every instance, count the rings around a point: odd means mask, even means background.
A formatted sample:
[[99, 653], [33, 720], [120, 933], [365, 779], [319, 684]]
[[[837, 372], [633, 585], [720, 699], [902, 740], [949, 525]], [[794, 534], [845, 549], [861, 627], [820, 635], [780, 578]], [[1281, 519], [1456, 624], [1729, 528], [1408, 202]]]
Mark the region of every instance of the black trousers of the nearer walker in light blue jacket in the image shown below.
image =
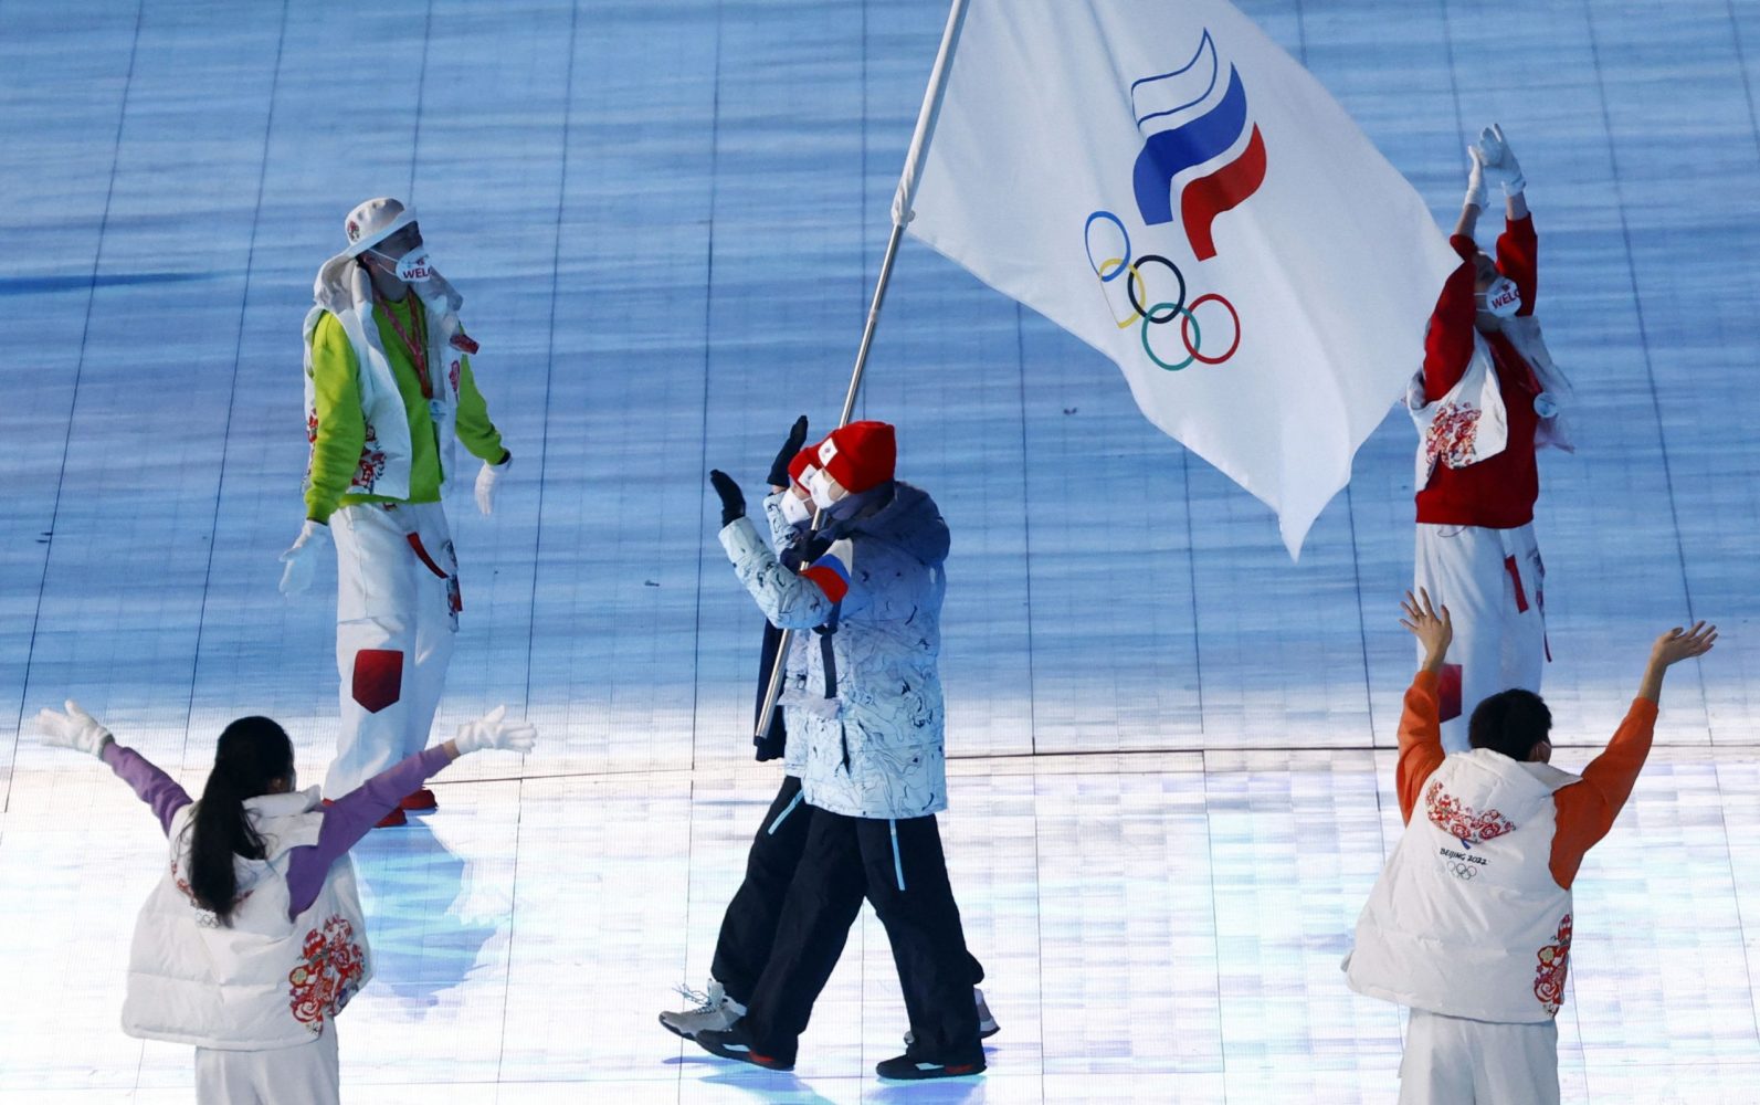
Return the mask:
[[982, 1059], [972, 987], [984, 968], [966, 950], [935, 816], [891, 822], [824, 809], [813, 809], [769, 962], [746, 1001], [743, 1024], [753, 1047], [794, 1059], [862, 897], [892, 945], [912, 1054], [935, 1063]]

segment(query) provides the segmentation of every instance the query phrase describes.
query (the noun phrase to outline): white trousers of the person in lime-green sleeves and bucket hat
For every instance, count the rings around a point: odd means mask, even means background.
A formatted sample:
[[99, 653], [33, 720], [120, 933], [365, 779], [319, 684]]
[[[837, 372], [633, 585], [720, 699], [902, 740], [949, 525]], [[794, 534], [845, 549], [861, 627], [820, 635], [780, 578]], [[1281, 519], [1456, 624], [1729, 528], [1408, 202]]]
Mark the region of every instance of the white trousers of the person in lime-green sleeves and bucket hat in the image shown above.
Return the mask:
[[428, 746], [461, 607], [440, 503], [331, 516], [341, 732], [324, 794], [338, 799]]

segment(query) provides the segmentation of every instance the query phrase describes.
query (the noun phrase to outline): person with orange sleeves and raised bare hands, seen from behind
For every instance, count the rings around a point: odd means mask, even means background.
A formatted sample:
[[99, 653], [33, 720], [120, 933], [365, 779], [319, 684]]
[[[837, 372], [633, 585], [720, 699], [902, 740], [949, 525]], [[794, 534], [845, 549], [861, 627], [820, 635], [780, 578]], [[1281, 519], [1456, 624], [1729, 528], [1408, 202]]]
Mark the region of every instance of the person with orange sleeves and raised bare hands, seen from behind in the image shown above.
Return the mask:
[[1452, 618], [1426, 591], [1406, 595], [1404, 614], [1424, 651], [1399, 721], [1406, 831], [1357, 920], [1346, 980], [1412, 1010], [1403, 1105], [1551, 1105], [1572, 883], [1632, 795], [1663, 676], [1711, 651], [1718, 630], [1698, 623], [1656, 639], [1624, 721], [1575, 776], [1549, 764], [1552, 714], [1521, 688], [1473, 709], [1471, 751], [1445, 753], [1438, 683]]

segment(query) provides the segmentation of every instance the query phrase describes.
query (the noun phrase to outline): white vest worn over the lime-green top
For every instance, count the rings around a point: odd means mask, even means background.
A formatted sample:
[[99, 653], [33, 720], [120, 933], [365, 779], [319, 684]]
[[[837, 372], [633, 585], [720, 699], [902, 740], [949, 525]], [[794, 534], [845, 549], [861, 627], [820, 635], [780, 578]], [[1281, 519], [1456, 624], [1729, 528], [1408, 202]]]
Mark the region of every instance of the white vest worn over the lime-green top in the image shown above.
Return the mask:
[[[458, 308], [465, 297], [452, 289], [438, 273], [433, 278], [410, 285], [428, 311], [428, 364], [444, 366], [435, 373], [435, 398], [428, 403], [428, 412], [435, 421], [440, 438], [440, 489], [445, 491], [452, 473], [452, 442], [458, 426], [458, 377], [459, 350], [452, 348], [458, 336]], [[385, 359], [385, 348], [378, 340], [378, 324], [373, 320], [373, 285], [366, 271], [347, 253], [338, 253], [319, 269], [312, 287], [313, 308], [306, 311], [306, 443], [317, 443], [319, 405], [317, 389], [312, 377], [312, 334], [317, 333], [319, 320], [336, 315], [348, 345], [354, 347], [354, 359], [359, 366], [361, 415], [366, 421], [366, 442], [361, 445], [361, 466], [356, 470], [348, 494], [382, 494], [387, 498], [410, 496], [410, 419], [403, 408], [403, 394], [398, 391], [396, 373]], [[306, 463], [306, 482], [312, 480], [312, 465]]]

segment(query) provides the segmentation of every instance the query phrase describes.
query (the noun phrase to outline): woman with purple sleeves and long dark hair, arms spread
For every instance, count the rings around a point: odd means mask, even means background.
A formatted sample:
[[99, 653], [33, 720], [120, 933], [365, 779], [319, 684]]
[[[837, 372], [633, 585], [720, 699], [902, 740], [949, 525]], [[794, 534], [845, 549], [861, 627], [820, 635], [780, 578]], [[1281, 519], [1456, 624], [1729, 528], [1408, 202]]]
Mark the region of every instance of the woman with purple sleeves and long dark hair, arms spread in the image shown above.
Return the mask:
[[352, 848], [422, 779], [537, 732], [498, 707], [336, 802], [294, 781], [294, 746], [239, 718], [215, 746], [199, 802], [72, 700], [44, 709], [46, 744], [102, 758], [164, 829], [169, 852], [134, 927], [123, 1031], [195, 1047], [201, 1105], [340, 1101], [336, 1015], [373, 977]]

